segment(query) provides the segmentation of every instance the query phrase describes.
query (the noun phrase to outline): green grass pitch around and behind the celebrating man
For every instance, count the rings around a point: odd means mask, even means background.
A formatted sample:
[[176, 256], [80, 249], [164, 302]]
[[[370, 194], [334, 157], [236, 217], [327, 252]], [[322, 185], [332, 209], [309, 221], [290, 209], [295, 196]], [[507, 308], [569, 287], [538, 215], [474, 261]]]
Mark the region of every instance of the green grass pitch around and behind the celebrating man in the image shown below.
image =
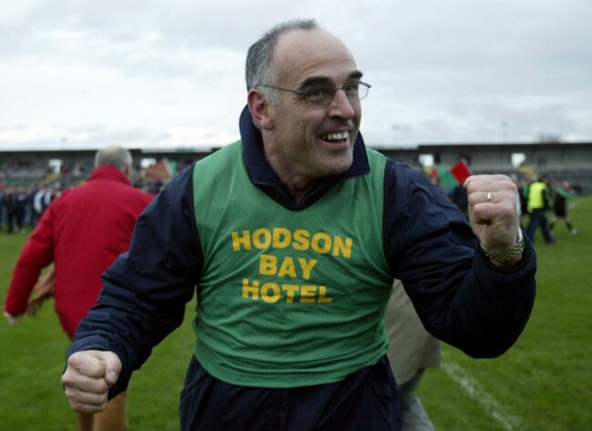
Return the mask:
[[[444, 346], [443, 367], [426, 373], [419, 394], [439, 431], [591, 429], [592, 197], [571, 217], [580, 231], [556, 227], [556, 244], [537, 238], [536, 306], [525, 333], [495, 360]], [[0, 297], [25, 234], [0, 234]], [[67, 348], [53, 304], [12, 328], [0, 323], [0, 429], [73, 430], [60, 375]], [[129, 389], [130, 430], [179, 429], [178, 402], [193, 343], [186, 322], [160, 344]]]

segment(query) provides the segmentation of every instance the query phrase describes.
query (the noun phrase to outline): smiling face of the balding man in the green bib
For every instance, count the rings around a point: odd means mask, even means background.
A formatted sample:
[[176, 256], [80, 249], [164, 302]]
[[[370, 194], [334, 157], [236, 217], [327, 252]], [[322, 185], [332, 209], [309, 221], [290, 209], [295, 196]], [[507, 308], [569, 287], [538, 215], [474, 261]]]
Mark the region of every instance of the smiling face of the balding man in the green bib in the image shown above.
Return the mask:
[[[341, 88], [359, 82], [362, 76], [349, 50], [322, 30], [280, 36], [273, 58], [277, 87], [301, 91]], [[350, 102], [339, 90], [331, 105], [314, 106], [299, 94], [274, 91], [279, 94], [277, 103], [270, 104], [273, 127], [264, 135], [265, 153], [281, 179], [289, 186], [291, 182], [306, 186], [349, 169], [362, 118], [360, 102]]]

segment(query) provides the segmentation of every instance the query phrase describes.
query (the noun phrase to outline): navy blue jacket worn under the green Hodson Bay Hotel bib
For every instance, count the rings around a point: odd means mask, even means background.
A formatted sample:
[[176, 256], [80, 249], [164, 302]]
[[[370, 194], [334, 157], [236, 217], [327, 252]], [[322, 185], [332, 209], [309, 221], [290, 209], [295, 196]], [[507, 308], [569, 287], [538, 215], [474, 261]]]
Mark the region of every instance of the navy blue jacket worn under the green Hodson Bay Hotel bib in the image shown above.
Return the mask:
[[[264, 159], [260, 132], [246, 109], [240, 138], [250, 180], [295, 210], [370, 169], [359, 136], [352, 167], [319, 180], [297, 203]], [[203, 258], [191, 174], [191, 168], [179, 173], [140, 216], [129, 251], [104, 273], [98, 303], [68, 351], [110, 350], [119, 356], [123, 370], [111, 396], [125, 389], [152, 347], [182, 323], [199, 285]], [[481, 254], [463, 213], [422, 173], [389, 161], [384, 181], [384, 253], [425, 327], [471, 356], [503, 354], [524, 329], [535, 300], [536, 257], [526, 235], [522, 262], [501, 270]]]

